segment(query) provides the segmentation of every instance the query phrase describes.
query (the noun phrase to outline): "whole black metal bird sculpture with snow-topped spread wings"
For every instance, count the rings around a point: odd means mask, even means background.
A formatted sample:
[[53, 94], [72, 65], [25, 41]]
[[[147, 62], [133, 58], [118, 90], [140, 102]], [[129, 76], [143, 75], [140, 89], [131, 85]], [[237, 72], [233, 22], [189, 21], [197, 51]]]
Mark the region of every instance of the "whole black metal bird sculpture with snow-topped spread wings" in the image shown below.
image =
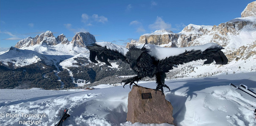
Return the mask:
[[140, 81], [143, 77], [156, 77], [156, 92], [162, 91], [163, 87], [170, 88], [165, 84], [167, 72], [177, 67], [179, 64], [188, 63], [194, 60], [205, 60], [204, 64], [212, 63], [215, 60], [216, 64], [227, 64], [228, 59], [221, 51], [224, 49], [215, 43], [207, 43], [205, 45], [191, 47], [159, 47], [156, 45], [130, 45], [129, 48], [122, 47], [110, 42], [96, 42], [93, 45], [87, 46], [90, 50], [90, 60], [93, 63], [99, 61], [105, 62], [108, 66], [111, 64], [108, 60], [123, 60], [128, 63], [132, 70], [137, 73], [137, 76], [121, 81], [124, 83], [135, 84], [135, 81]]

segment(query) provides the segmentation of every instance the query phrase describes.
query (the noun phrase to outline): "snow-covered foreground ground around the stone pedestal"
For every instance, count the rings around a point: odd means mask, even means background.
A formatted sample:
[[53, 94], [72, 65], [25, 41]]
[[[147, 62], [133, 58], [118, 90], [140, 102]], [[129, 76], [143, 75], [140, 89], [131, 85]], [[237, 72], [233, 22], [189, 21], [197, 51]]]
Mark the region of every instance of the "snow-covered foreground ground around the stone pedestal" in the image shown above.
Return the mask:
[[[256, 126], [256, 99], [228, 86], [256, 90], [256, 72], [168, 80], [166, 100], [173, 105], [177, 126]], [[155, 82], [142, 82], [155, 88]], [[63, 126], [172, 126], [126, 121], [129, 86], [102, 84], [94, 90], [0, 89], [0, 126], [54, 126], [69, 108]], [[40, 115], [33, 118], [32, 115]], [[29, 124], [30, 123], [30, 124]]]

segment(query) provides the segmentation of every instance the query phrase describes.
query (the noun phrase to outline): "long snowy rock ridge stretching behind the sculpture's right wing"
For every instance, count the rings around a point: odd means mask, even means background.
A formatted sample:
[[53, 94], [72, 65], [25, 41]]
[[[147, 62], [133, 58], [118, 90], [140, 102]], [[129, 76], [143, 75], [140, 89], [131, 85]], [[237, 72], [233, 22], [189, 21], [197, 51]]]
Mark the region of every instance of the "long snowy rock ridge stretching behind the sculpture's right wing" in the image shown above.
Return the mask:
[[[166, 30], [164, 30], [163, 32], [143, 34], [140, 36], [138, 42], [132, 40], [131, 42], [127, 43], [126, 47], [129, 47], [130, 44], [144, 44], [146, 39], [149, 44], [162, 47], [188, 47], [206, 44], [209, 42], [215, 42], [223, 47], [226, 47], [229, 39], [234, 38], [243, 32], [243, 28], [245, 28], [246, 31], [247, 26], [250, 27], [248, 30], [254, 34], [254, 32], [256, 32], [256, 17], [235, 18], [214, 26], [189, 24], [179, 33], [165, 32]], [[256, 40], [256, 37], [252, 38]], [[246, 44], [246, 42], [242, 43], [242, 45]], [[239, 45], [239, 47], [242, 45]], [[232, 47], [230, 50], [237, 49], [239, 47]]]

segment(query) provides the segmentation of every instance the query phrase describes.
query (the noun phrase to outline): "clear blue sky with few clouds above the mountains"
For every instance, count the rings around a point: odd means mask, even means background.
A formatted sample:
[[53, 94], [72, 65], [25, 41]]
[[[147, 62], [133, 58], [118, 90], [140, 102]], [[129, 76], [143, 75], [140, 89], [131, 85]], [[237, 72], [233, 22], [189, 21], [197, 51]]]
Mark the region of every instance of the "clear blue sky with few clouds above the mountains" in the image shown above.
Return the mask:
[[122, 45], [159, 29], [218, 25], [241, 17], [254, 0], [0, 0], [0, 48], [45, 31], [90, 32], [96, 41]]

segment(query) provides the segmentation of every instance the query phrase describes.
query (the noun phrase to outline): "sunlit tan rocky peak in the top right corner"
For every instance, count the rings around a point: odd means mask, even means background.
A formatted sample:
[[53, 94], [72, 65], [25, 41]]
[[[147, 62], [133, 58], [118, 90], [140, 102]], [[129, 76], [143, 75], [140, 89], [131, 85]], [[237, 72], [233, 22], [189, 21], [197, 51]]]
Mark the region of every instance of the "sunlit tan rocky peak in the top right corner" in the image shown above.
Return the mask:
[[249, 3], [244, 11], [241, 13], [241, 17], [256, 16], [256, 1]]

